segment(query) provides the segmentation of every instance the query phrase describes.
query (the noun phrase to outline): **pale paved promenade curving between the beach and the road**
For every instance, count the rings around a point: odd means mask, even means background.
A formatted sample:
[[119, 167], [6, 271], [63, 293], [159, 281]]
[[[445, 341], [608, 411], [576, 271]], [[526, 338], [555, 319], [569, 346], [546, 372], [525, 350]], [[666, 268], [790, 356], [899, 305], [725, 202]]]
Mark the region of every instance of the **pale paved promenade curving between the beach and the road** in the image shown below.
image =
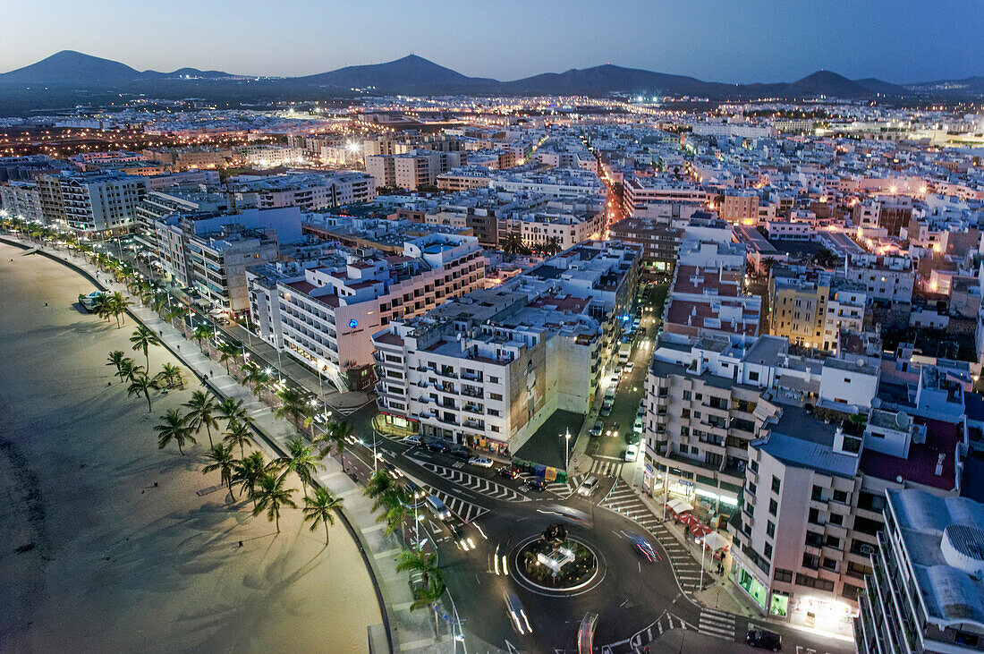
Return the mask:
[[[34, 247], [32, 243], [20, 243]], [[123, 293], [134, 303], [131, 315], [154, 330], [163, 346], [179, 358], [189, 372], [200, 381], [208, 376], [208, 381], [202, 382], [204, 386], [212, 389], [219, 399], [235, 397], [243, 400], [244, 408], [253, 421], [254, 431], [260, 437], [255, 439], [256, 446], [264, 449], [270, 457], [285, 453], [286, 442], [297, 434], [295, 428], [287, 421], [277, 419], [270, 406], [259, 401], [247, 387], [241, 386], [227, 375], [224, 365], [204, 355], [199, 351], [197, 343], [186, 339], [176, 327], [162, 320], [153, 310], [142, 306], [139, 299], [131, 296], [122, 284], [108, 281], [107, 273], [97, 271], [88, 260], [84, 261], [50, 247], [39, 250], [43, 255], [62, 261], [93, 280], [98, 278], [95, 281], [98, 287]], [[348, 454], [348, 459], [351, 460], [351, 454]], [[383, 535], [385, 525], [376, 522], [376, 516], [371, 511], [372, 502], [363, 495], [362, 486], [342, 471], [336, 459], [328, 457], [324, 463], [325, 470], [316, 477], [315, 484], [344, 499], [342, 521], [363, 554], [379, 597], [385, 632], [371, 636], [371, 651], [454, 651], [455, 643], [447, 631], [435, 633], [431, 612], [409, 611], [413, 597], [407, 576], [397, 572], [394, 565], [395, 557], [403, 549], [399, 536]], [[391, 642], [387, 642], [388, 637]]]

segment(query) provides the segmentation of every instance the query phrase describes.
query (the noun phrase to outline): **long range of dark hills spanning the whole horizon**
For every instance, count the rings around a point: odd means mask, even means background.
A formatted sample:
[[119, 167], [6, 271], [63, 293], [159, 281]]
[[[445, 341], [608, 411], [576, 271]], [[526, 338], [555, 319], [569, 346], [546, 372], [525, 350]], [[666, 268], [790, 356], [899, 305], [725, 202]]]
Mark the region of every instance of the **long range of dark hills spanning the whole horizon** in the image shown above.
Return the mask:
[[[966, 78], [912, 85], [893, 85], [873, 78], [848, 80], [831, 71], [821, 70], [795, 82], [770, 84], [725, 84], [705, 82], [683, 75], [668, 75], [638, 68], [606, 64], [592, 68], [572, 68], [563, 73], [544, 73], [532, 77], [500, 82], [490, 78], [472, 78], [440, 66], [417, 55], [409, 55], [382, 64], [346, 66], [338, 70], [298, 78], [251, 80], [221, 71], [181, 68], [171, 73], [138, 71], [125, 64], [92, 55], [63, 50], [30, 66], [0, 74], [0, 89], [12, 101], [15, 89], [20, 106], [36, 95], [36, 107], [54, 104], [37, 85], [59, 88], [59, 102], [77, 98], [80, 93], [139, 92], [156, 97], [209, 97], [238, 102], [253, 99], [315, 99], [351, 97], [351, 89], [375, 93], [489, 94], [489, 95], [591, 95], [612, 93], [633, 95], [690, 95], [711, 100], [755, 99], [775, 97], [802, 99], [825, 95], [830, 98], [935, 97], [984, 95], [984, 78]], [[31, 89], [25, 89], [31, 87]], [[27, 93], [27, 94], [26, 94]], [[72, 95], [71, 93], [75, 93]], [[92, 98], [95, 95], [91, 95]], [[247, 98], [243, 100], [242, 98]], [[4, 102], [0, 101], [0, 106]], [[10, 110], [5, 107], [2, 111]]]

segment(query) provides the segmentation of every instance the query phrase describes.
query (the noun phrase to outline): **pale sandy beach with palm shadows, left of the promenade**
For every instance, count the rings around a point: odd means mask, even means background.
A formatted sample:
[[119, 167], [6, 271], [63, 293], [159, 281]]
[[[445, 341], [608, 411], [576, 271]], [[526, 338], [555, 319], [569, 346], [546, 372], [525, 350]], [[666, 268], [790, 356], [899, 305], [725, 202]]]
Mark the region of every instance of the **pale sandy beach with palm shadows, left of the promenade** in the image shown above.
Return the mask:
[[[200, 386], [186, 372], [153, 414], [127, 397], [105, 362], [143, 362], [135, 326], [82, 313], [92, 290], [0, 244], [0, 651], [368, 651], [379, 606], [340, 520], [325, 548], [297, 509], [277, 535], [248, 502], [200, 497], [219, 482], [205, 432], [181, 456], [153, 431]], [[152, 371], [166, 362], [152, 349]]]

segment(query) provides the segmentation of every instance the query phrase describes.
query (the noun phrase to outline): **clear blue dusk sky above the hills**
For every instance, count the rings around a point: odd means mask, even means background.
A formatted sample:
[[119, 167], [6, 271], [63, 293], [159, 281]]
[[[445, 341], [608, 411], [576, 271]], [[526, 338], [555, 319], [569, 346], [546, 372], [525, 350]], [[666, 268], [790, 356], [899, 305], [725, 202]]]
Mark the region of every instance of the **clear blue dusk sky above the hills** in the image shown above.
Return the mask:
[[0, 71], [79, 50], [139, 70], [309, 75], [417, 54], [515, 80], [611, 63], [730, 83], [819, 69], [984, 75], [982, 0], [3, 0]]

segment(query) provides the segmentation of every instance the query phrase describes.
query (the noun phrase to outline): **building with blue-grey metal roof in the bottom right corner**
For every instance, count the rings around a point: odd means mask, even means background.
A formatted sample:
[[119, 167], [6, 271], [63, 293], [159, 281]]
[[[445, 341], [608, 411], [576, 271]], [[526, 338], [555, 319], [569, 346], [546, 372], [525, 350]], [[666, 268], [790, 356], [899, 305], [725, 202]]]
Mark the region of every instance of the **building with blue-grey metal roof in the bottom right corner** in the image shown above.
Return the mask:
[[984, 649], [984, 506], [889, 490], [855, 621], [860, 654]]

